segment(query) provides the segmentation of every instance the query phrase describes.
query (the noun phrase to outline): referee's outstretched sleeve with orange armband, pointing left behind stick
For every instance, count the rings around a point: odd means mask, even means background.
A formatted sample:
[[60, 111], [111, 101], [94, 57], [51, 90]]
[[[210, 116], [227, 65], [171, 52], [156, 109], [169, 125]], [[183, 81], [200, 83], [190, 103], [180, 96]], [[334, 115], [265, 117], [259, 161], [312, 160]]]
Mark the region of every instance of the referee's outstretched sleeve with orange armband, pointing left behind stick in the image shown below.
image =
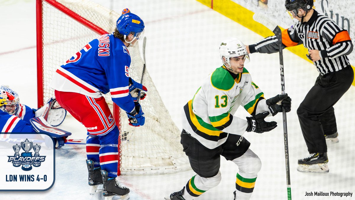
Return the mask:
[[[296, 33], [297, 24], [282, 31], [282, 47], [293, 47], [302, 44]], [[249, 46], [250, 53], [275, 53], [279, 51], [279, 44], [276, 36], [269, 36]]]

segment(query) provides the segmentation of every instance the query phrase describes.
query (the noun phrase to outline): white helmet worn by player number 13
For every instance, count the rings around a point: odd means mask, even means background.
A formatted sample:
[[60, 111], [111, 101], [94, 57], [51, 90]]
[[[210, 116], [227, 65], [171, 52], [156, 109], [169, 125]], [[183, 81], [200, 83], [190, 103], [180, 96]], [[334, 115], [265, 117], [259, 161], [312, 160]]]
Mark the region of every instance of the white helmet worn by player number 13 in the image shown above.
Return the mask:
[[[229, 65], [229, 67], [225, 66], [228, 69], [231, 69], [229, 59], [233, 57], [245, 55], [244, 64], [250, 62], [249, 54], [246, 51], [245, 45], [237, 38], [229, 38], [223, 40], [219, 46], [219, 55], [222, 59], [223, 64]], [[225, 60], [223, 60], [223, 57], [225, 57]]]

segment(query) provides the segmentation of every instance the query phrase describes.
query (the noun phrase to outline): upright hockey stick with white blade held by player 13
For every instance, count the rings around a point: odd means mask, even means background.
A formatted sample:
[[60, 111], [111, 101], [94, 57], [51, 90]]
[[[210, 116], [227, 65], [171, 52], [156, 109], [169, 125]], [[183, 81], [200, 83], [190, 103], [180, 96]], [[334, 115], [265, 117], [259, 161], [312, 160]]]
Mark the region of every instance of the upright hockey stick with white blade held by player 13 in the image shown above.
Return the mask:
[[[281, 29], [275, 22], [261, 13], [255, 13], [253, 19], [271, 30], [279, 42], [279, 58], [280, 58], [280, 76], [281, 76], [281, 94], [285, 94], [285, 78], [284, 78], [284, 60], [282, 54], [282, 36]], [[282, 109], [283, 125], [284, 125], [284, 145], [285, 145], [285, 162], [286, 162], [286, 179], [287, 179], [287, 198], [291, 200], [291, 183], [290, 183], [290, 163], [288, 152], [288, 139], [287, 139], [287, 120], [286, 111]]]

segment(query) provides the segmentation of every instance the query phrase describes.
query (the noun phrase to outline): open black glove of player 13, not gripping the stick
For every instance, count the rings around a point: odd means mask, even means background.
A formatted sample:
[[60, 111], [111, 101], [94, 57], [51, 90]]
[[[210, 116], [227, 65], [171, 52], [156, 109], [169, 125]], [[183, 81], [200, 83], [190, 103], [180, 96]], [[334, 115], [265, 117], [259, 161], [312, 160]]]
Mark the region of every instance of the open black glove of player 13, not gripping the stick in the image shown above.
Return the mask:
[[263, 112], [252, 117], [246, 117], [246, 120], [248, 121], [248, 127], [246, 128], [246, 131], [263, 133], [263, 132], [271, 131], [274, 128], [276, 128], [277, 122], [274, 121], [267, 122], [264, 120], [265, 117], [268, 116], [269, 114], [270, 114], [269, 112]]

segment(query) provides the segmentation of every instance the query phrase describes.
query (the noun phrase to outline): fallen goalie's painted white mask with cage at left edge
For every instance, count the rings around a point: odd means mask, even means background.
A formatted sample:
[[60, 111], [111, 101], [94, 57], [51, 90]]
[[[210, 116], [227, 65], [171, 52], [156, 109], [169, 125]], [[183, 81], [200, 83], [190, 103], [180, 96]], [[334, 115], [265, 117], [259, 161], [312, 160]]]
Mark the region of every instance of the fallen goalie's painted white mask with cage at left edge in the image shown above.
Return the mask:
[[[9, 88], [9, 86], [0, 86], [0, 109], [10, 115], [16, 114], [19, 108], [18, 94]], [[9, 109], [9, 108], [12, 109]]]

